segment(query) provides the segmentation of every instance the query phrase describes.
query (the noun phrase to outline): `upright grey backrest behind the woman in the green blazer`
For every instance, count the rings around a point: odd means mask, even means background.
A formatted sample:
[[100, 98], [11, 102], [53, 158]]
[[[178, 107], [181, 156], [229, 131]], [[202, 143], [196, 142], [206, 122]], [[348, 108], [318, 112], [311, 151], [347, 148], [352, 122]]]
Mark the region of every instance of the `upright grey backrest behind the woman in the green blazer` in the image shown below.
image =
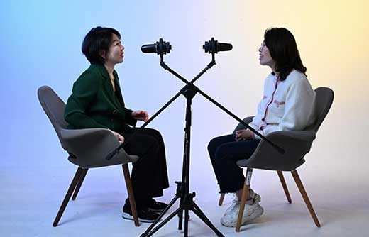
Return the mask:
[[[68, 123], [64, 120], [65, 103], [59, 96], [48, 86], [38, 88], [38, 100], [43, 110], [50, 119], [51, 124], [57, 133], [57, 137], [62, 144], [60, 129], [67, 128]], [[62, 145], [63, 146], [63, 145]]]

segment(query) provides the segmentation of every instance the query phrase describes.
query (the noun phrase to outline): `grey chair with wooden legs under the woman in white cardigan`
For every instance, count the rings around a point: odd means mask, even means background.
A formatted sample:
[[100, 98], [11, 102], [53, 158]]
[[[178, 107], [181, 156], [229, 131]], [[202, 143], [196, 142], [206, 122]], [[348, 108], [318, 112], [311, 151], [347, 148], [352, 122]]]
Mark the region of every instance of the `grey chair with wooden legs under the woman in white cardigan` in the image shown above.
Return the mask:
[[[277, 131], [266, 136], [273, 143], [280, 145], [280, 147], [285, 149], [284, 155], [277, 153], [274, 148], [272, 148], [268, 143], [262, 140], [260, 141], [253, 155], [248, 159], [238, 160], [237, 165], [247, 168], [246, 177], [248, 177], [250, 173], [252, 173], [253, 168], [262, 170], [277, 170], [277, 174], [280, 177], [280, 182], [282, 183], [282, 187], [285, 190], [287, 201], [289, 203], [292, 203], [285, 178], [282, 174], [282, 171], [290, 171], [292, 173], [294, 181], [297, 184], [299, 192], [301, 192], [302, 198], [304, 199], [304, 202], [307, 205], [312, 218], [314, 219], [316, 226], [320, 227], [319, 220], [316, 217], [312, 204], [309, 201], [309, 197], [307, 197], [307, 192], [305, 191], [296, 170], [297, 167], [305, 162], [304, 155], [306, 155], [312, 147], [312, 142], [316, 137], [316, 132], [318, 131], [319, 126], [321, 126], [321, 123], [326, 117], [326, 114], [328, 114], [328, 111], [331, 108], [331, 104], [334, 99], [334, 92], [329, 88], [319, 87], [315, 89], [315, 92], [316, 121], [312, 126], [309, 126], [304, 131]], [[252, 119], [253, 117], [247, 117], [244, 118], [243, 121], [245, 123], [250, 123]], [[245, 126], [240, 123], [233, 131], [233, 133], [244, 128]], [[249, 187], [250, 183], [246, 178], [245, 184], [243, 186], [244, 192], [241, 199], [240, 211], [238, 213], [236, 231], [240, 231], [243, 208], [245, 206], [246, 199], [248, 199], [248, 194], [246, 193], [246, 190], [248, 190]], [[221, 197], [219, 199], [219, 206], [221, 206], [221, 204], [223, 203], [223, 199], [224, 194], [221, 194]]]

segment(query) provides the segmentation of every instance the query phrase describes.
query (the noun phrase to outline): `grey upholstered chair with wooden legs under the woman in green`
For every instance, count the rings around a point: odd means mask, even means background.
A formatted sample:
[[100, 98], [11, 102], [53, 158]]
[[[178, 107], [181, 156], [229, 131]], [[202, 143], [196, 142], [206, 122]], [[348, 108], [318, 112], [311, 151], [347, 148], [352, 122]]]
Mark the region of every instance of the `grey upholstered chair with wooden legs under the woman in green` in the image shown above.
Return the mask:
[[136, 202], [133, 196], [131, 177], [127, 165], [128, 162], [135, 162], [138, 160], [138, 156], [127, 155], [124, 150], [121, 150], [114, 159], [109, 161], [106, 160], [106, 154], [110, 153], [119, 145], [118, 140], [109, 130], [104, 128], [67, 129], [67, 122], [64, 120], [65, 103], [55, 94], [53, 89], [47, 86], [40, 87], [38, 89], [38, 99], [55, 128], [62, 148], [70, 154], [68, 160], [78, 166], [75, 177], [57, 212], [53, 226], [57, 226], [73, 192], [72, 200], [77, 197], [79, 188], [87, 174], [87, 170], [93, 167], [104, 167], [109, 165], [122, 165], [123, 167], [133, 220], [135, 225], [138, 226]]

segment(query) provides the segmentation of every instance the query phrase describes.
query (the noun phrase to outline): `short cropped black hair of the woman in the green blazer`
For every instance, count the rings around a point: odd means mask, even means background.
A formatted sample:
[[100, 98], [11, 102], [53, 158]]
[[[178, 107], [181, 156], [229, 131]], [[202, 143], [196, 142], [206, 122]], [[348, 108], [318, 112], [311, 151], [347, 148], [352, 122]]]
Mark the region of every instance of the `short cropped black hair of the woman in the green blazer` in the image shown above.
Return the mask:
[[97, 26], [92, 28], [82, 42], [82, 53], [91, 64], [104, 64], [104, 57], [100, 56], [101, 50], [109, 53], [109, 47], [113, 34], [121, 39], [121, 34], [114, 28]]

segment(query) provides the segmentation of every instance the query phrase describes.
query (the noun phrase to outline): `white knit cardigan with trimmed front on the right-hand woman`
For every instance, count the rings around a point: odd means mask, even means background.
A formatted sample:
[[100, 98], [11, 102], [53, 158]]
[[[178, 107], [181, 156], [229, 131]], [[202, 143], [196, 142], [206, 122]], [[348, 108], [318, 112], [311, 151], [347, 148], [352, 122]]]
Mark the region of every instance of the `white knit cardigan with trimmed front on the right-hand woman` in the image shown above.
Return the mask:
[[[248, 125], [268, 135], [274, 131], [301, 131], [314, 122], [315, 92], [307, 77], [292, 70], [284, 81], [268, 75], [258, 114]], [[255, 134], [256, 139], [260, 139]]]

